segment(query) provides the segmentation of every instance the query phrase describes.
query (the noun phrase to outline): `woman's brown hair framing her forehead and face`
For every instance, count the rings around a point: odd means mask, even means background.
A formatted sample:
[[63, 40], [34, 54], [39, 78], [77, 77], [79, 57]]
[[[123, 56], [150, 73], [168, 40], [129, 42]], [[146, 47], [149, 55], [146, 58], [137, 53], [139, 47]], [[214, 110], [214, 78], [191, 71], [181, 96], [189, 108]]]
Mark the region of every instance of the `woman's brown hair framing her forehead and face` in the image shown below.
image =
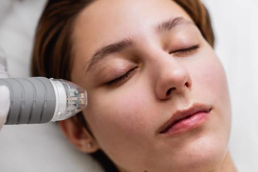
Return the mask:
[[[73, 22], [92, 1], [94, 0], [49, 0], [47, 2], [36, 29], [31, 63], [32, 76], [71, 79]], [[174, 1], [189, 14], [203, 37], [213, 47], [214, 34], [210, 17], [201, 0]], [[76, 116], [87, 128], [82, 113]], [[118, 172], [102, 150], [93, 153], [92, 156], [106, 172]]]

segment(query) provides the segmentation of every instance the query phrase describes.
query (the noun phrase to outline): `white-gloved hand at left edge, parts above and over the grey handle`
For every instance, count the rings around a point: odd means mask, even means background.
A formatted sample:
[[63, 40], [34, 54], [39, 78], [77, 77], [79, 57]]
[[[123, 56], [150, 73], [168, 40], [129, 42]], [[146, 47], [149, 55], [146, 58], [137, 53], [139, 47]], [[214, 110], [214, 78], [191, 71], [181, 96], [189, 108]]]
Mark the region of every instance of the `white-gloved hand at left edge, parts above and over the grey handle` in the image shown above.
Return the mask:
[[[0, 78], [8, 78], [6, 72], [6, 62], [4, 53], [0, 47]], [[0, 86], [0, 129], [6, 121], [8, 111], [10, 108], [10, 90], [7, 86]]]

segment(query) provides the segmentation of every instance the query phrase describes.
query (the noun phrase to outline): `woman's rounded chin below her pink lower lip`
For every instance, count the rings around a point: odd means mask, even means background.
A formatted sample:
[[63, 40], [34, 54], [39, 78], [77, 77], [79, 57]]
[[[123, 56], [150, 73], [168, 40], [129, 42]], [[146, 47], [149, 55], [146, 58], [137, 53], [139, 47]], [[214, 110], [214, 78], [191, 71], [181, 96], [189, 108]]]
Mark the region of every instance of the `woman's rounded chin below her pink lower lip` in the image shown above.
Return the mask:
[[[160, 158], [159, 172], [209, 172], [214, 170], [225, 158], [228, 151], [229, 135], [222, 130], [189, 133], [163, 147], [164, 157]], [[169, 151], [168, 151], [169, 150]], [[156, 164], [157, 165], [157, 164]]]

